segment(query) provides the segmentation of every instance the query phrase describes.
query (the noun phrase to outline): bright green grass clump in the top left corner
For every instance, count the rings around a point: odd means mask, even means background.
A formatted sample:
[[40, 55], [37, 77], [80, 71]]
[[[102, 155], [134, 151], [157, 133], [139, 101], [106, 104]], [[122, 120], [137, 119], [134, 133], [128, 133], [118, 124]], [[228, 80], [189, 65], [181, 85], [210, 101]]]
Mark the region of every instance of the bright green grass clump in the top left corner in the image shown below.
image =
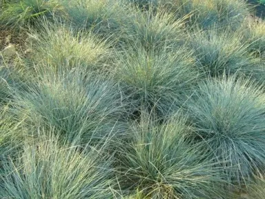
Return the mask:
[[32, 24], [37, 19], [48, 17], [52, 19], [55, 10], [59, 10], [57, 1], [22, 0], [5, 3], [0, 14], [0, 28], [19, 30]]

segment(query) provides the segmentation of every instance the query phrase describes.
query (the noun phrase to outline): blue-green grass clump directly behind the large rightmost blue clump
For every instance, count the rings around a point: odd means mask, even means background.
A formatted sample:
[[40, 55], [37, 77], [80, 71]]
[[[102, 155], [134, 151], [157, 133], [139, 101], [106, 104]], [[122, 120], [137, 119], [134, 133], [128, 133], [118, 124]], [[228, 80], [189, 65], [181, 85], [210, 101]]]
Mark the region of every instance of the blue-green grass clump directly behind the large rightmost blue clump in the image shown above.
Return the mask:
[[189, 46], [194, 50], [197, 66], [212, 77], [226, 73], [250, 74], [258, 60], [249, 55], [248, 44], [242, 37], [213, 28], [190, 35]]

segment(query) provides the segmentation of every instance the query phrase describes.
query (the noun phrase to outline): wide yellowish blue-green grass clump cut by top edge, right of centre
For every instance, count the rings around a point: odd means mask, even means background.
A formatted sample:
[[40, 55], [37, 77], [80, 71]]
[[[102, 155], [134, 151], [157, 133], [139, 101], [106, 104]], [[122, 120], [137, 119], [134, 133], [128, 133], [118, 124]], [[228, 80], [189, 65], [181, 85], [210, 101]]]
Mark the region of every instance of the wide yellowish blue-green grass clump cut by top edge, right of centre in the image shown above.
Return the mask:
[[237, 30], [249, 13], [246, 2], [240, 0], [161, 0], [160, 4], [174, 12], [177, 17], [190, 15], [189, 25], [199, 26], [204, 30], [215, 24], [222, 29]]

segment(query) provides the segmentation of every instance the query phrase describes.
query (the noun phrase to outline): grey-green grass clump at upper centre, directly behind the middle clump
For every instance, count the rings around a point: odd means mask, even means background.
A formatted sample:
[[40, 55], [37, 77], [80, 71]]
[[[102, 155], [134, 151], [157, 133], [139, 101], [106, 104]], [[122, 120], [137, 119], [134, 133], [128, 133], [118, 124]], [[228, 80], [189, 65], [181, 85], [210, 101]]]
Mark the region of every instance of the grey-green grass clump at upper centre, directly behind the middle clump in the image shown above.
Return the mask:
[[123, 28], [124, 40], [130, 46], [144, 46], [146, 50], [160, 48], [176, 48], [184, 43], [184, 20], [175, 20], [173, 14], [157, 9], [156, 12], [148, 10], [139, 12], [132, 9], [136, 14], [131, 23]]

